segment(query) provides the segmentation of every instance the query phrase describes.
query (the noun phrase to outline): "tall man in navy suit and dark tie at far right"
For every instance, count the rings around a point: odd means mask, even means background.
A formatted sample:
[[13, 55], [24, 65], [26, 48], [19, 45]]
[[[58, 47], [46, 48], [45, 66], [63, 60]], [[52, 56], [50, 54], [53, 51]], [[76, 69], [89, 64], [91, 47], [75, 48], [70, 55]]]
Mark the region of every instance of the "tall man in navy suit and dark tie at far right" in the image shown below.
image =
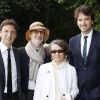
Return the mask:
[[100, 33], [93, 29], [92, 9], [81, 5], [75, 10], [81, 34], [69, 41], [70, 64], [78, 76], [77, 100], [100, 100]]

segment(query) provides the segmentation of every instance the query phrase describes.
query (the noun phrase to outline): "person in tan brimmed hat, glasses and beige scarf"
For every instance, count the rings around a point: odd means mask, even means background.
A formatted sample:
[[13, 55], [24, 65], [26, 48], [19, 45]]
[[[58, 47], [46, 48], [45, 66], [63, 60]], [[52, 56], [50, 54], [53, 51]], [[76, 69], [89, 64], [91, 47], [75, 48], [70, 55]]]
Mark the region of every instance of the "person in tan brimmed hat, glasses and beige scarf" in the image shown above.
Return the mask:
[[19, 49], [22, 57], [22, 89], [25, 100], [33, 100], [38, 69], [46, 56], [43, 43], [48, 37], [48, 28], [41, 22], [33, 22], [25, 33], [27, 45]]

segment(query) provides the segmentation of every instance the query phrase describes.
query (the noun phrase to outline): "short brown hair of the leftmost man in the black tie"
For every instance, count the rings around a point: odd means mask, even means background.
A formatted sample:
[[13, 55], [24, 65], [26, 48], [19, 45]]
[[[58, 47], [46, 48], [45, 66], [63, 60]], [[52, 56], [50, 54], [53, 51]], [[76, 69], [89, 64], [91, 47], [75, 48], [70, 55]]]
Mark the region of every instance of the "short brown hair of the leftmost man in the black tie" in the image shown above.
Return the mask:
[[5, 26], [5, 25], [13, 25], [15, 27], [16, 31], [18, 30], [18, 25], [13, 19], [5, 19], [4, 21], [2, 21], [2, 23], [0, 24], [0, 31], [2, 30], [3, 26]]

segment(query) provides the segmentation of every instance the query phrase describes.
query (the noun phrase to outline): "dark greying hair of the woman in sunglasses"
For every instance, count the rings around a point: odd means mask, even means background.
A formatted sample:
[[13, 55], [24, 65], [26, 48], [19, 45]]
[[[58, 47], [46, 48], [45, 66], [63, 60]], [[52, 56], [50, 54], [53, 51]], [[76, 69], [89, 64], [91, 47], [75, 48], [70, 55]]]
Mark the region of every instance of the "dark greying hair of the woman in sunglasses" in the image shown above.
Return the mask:
[[51, 50], [52, 44], [57, 44], [58, 46], [60, 46], [62, 48], [62, 50], [64, 50], [64, 54], [65, 54], [65, 56], [67, 56], [67, 59], [69, 58], [69, 47], [65, 40], [56, 39], [56, 40], [51, 41], [51, 43], [49, 45], [49, 52]]

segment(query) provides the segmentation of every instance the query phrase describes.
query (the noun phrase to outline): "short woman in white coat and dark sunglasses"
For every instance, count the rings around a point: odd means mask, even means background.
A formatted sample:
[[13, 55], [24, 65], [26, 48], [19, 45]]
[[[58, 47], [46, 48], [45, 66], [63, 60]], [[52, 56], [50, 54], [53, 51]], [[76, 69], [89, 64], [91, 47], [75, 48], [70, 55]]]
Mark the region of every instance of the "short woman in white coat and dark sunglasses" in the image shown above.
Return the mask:
[[33, 100], [74, 100], [79, 90], [76, 70], [66, 60], [68, 45], [54, 40], [49, 52], [52, 61], [40, 66]]

